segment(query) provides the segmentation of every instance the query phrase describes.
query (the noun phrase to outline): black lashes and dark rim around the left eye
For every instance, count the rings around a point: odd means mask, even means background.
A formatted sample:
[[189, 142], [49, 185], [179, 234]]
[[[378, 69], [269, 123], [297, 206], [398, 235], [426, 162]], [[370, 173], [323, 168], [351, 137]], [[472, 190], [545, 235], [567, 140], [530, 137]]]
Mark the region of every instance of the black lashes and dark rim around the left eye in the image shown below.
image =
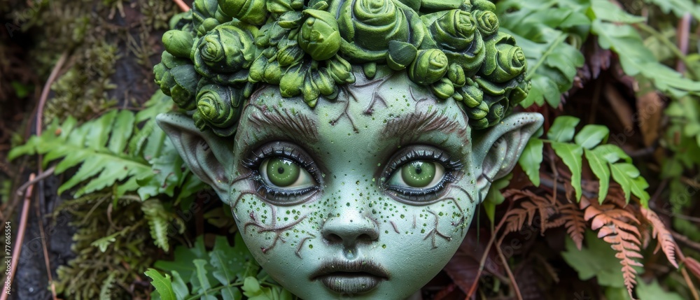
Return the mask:
[[[265, 159], [273, 157], [290, 159], [295, 162], [295, 164], [306, 169], [311, 176], [314, 176], [314, 181], [316, 181], [317, 184], [297, 190], [279, 190], [267, 185], [260, 175], [260, 166], [262, 162], [265, 162]], [[299, 202], [299, 199], [296, 198], [306, 196], [307, 194], [309, 194], [310, 197], [320, 189], [320, 185], [318, 185], [320, 172], [318, 171], [318, 167], [316, 167], [316, 163], [309, 155], [290, 143], [275, 142], [262, 145], [258, 150], [251, 152], [251, 155], [248, 155], [246, 159], [243, 159], [242, 164], [253, 172], [250, 179], [255, 183], [255, 191], [258, 192], [260, 197], [276, 204]]]

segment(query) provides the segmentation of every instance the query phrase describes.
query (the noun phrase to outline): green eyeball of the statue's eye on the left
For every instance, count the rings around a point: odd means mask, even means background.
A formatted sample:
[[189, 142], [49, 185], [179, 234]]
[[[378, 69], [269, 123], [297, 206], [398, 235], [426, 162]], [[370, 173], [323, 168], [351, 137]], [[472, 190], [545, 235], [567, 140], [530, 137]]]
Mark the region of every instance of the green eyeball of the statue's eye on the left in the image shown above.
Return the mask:
[[297, 194], [314, 186], [314, 178], [309, 171], [283, 157], [265, 159], [259, 171], [265, 185], [281, 192]]

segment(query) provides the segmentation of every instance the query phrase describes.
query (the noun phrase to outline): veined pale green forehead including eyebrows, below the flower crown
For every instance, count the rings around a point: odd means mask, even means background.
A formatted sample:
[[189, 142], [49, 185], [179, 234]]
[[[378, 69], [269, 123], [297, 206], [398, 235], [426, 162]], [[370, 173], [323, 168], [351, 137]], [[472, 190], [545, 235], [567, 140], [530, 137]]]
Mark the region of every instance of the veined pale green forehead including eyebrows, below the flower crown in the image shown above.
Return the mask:
[[357, 77], [336, 99], [321, 98], [314, 108], [302, 97], [283, 98], [278, 87], [266, 87], [244, 108], [237, 136], [250, 139], [251, 134], [276, 131], [310, 142], [361, 138], [367, 143], [367, 138], [410, 140], [429, 134], [468, 143], [468, 117], [460, 103], [436, 99], [428, 88], [411, 83], [405, 72], [373, 80]]

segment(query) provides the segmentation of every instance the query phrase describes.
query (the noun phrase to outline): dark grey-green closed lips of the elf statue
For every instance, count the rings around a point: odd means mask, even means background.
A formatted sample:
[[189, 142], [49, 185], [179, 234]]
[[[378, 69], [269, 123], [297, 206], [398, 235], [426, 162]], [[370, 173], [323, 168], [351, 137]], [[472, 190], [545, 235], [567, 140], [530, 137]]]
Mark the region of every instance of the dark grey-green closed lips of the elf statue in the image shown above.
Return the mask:
[[361, 294], [388, 280], [389, 273], [370, 260], [348, 261], [335, 259], [321, 264], [311, 280], [321, 280], [328, 290], [340, 294]]

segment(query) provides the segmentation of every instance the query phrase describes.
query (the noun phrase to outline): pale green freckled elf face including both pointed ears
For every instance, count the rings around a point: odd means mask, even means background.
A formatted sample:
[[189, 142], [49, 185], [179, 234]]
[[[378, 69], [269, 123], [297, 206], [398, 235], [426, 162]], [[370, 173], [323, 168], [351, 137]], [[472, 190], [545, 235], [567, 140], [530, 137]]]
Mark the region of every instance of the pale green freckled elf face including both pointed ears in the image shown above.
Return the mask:
[[457, 101], [404, 72], [360, 77], [316, 108], [259, 90], [234, 141], [201, 135], [209, 148], [191, 119], [159, 119], [230, 203], [258, 263], [304, 299], [409, 297], [447, 264], [541, 123], [521, 115], [475, 140]]

